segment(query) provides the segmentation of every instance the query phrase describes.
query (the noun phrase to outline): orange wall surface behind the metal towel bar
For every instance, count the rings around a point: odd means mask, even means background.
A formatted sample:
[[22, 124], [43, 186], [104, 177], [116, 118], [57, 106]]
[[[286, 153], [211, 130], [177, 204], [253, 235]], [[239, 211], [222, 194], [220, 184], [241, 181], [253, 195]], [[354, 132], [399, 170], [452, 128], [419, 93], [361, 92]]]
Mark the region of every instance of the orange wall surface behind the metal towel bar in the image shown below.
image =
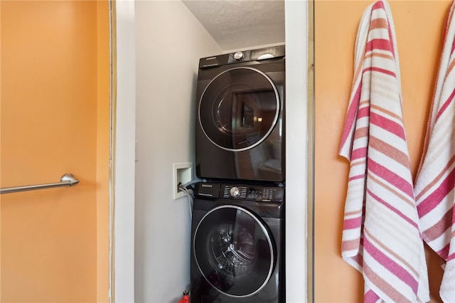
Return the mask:
[[0, 300], [107, 302], [107, 2], [1, 1], [0, 20], [0, 186], [80, 180], [1, 195]]

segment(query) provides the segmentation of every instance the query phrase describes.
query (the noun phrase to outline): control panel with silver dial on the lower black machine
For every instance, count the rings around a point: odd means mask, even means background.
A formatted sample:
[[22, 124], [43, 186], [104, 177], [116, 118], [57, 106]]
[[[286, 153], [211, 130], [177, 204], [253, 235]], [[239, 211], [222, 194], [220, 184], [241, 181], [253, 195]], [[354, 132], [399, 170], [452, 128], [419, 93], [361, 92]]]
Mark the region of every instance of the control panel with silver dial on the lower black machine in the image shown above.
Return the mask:
[[196, 184], [194, 195], [206, 198], [231, 198], [250, 201], [284, 201], [284, 188], [245, 184]]

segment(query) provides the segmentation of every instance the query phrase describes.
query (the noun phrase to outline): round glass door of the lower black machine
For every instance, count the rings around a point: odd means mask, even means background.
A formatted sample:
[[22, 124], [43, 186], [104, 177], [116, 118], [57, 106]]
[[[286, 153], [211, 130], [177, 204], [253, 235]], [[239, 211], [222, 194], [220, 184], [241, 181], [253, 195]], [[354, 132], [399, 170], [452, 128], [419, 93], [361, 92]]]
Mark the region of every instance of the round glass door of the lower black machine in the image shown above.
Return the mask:
[[254, 213], [240, 206], [213, 208], [200, 220], [193, 241], [203, 277], [228, 296], [259, 292], [274, 270], [271, 233]]

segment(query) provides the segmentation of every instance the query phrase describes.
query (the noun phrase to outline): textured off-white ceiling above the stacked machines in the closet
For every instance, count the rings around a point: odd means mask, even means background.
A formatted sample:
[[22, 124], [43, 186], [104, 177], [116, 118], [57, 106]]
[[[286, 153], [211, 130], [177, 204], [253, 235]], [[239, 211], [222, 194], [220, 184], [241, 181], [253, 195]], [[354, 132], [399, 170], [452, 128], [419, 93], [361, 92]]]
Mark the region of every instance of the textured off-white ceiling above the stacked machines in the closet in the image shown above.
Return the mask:
[[284, 43], [284, 0], [182, 0], [223, 50]]

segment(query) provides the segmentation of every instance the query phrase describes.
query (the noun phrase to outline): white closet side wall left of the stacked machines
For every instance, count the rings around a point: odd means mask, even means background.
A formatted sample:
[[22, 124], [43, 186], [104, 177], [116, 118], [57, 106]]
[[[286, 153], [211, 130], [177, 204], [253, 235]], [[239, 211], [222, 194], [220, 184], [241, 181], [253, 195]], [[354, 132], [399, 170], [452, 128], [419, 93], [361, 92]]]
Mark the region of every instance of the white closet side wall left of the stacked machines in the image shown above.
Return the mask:
[[190, 282], [188, 198], [173, 163], [194, 159], [199, 58], [221, 53], [181, 1], [136, 1], [135, 302], [177, 302]]

